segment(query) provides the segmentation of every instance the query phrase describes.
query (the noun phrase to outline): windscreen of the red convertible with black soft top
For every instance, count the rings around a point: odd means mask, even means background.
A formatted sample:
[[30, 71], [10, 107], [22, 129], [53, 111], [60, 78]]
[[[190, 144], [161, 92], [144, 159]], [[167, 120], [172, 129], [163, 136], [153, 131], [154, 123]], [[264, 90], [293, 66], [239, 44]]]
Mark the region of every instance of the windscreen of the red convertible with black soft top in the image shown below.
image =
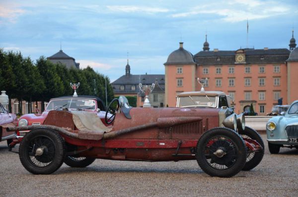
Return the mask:
[[46, 110], [59, 108], [95, 110], [95, 107], [95, 100], [93, 99], [54, 99], [50, 100]]

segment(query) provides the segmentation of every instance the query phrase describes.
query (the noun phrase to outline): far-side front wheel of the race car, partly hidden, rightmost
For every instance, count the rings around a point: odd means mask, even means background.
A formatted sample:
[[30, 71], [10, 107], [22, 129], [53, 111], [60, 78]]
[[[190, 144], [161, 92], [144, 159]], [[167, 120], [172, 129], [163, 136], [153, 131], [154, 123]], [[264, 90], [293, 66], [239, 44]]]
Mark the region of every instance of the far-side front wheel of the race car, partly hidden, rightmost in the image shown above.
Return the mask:
[[239, 131], [239, 134], [242, 136], [244, 141], [245, 141], [245, 139], [255, 140], [263, 148], [261, 151], [258, 151], [258, 152], [250, 152], [249, 150], [247, 150], [246, 163], [242, 170], [245, 170], [245, 171], [251, 170], [254, 167], [256, 167], [263, 159], [264, 142], [263, 142], [261, 136], [254, 129], [252, 129], [250, 127], [245, 127], [245, 130]]

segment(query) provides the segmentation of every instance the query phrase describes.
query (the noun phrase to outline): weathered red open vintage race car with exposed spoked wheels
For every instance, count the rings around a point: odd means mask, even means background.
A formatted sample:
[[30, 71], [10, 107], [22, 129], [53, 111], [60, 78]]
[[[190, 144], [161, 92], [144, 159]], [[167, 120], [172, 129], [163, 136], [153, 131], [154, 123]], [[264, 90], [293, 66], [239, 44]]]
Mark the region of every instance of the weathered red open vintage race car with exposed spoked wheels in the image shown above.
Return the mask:
[[197, 160], [210, 176], [231, 177], [256, 167], [264, 154], [259, 134], [226, 107], [133, 108], [120, 96], [108, 106], [105, 122], [110, 126], [85, 111], [52, 110], [44, 125], [8, 131], [31, 130], [20, 144], [19, 157], [33, 174], [51, 174], [63, 162], [86, 167], [101, 158]]

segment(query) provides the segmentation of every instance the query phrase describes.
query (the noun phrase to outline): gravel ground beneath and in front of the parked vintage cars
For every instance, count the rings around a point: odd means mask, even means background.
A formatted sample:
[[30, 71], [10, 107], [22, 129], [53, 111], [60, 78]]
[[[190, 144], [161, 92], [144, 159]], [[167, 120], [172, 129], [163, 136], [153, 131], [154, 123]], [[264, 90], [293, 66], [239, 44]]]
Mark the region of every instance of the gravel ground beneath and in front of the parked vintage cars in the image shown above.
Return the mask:
[[[264, 142], [266, 136], [262, 134]], [[0, 142], [0, 197], [24, 196], [206, 196], [294, 197], [298, 194], [298, 150], [281, 148], [232, 178], [210, 177], [196, 161], [134, 162], [96, 159], [86, 168], [63, 164], [51, 175], [32, 175], [18, 154]], [[12, 149], [18, 151], [18, 146]]]

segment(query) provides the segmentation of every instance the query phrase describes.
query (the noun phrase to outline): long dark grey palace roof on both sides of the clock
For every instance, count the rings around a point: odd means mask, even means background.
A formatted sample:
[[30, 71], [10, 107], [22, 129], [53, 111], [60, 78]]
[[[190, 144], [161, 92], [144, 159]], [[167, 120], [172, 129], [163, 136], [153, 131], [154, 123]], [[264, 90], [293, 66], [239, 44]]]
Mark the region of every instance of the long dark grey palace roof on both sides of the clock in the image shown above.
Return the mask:
[[[289, 49], [244, 49], [245, 63], [279, 63], [289, 57]], [[200, 51], [195, 54], [199, 65], [235, 64], [235, 50]]]

